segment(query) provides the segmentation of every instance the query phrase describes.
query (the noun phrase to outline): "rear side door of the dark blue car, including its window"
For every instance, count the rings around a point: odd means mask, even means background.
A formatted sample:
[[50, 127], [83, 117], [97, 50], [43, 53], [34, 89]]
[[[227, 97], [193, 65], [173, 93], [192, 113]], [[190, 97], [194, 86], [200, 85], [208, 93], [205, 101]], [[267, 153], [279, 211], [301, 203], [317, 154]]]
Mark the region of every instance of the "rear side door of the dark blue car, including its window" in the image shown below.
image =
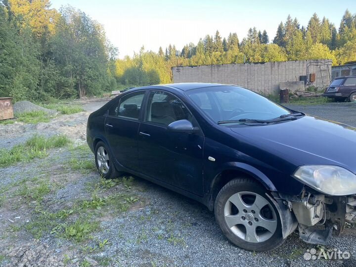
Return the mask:
[[129, 93], [114, 103], [105, 118], [105, 134], [116, 160], [137, 171], [137, 133], [146, 91]]

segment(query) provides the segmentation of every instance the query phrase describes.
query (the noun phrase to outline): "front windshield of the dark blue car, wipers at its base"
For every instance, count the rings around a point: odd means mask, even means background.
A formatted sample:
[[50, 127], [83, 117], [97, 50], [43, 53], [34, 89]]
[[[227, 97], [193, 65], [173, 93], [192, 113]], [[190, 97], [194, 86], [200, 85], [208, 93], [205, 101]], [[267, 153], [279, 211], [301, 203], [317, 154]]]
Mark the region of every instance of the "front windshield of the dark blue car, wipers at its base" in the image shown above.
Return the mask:
[[186, 93], [216, 123], [244, 119], [271, 120], [291, 114], [266, 97], [237, 86], [193, 89]]

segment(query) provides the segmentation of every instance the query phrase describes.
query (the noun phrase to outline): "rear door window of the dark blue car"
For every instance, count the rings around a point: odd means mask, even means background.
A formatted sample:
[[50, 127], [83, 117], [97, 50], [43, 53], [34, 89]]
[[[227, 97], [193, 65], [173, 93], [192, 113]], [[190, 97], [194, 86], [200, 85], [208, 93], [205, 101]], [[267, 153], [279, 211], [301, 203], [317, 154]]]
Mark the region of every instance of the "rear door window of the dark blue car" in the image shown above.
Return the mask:
[[114, 105], [109, 110], [109, 115], [123, 116], [138, 120], [143, 97], [145, 92], [134, 92], [120, 98], [118, 105]]

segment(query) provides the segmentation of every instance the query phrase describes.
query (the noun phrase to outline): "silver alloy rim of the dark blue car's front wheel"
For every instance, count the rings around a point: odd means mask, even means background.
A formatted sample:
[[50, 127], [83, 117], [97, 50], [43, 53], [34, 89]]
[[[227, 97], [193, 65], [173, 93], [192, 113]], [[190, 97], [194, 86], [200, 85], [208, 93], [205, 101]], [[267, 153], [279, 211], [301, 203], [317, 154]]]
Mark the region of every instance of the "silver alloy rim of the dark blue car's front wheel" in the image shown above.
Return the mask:
[[238, 192], [225, 203], [224, 219], [230, 230], [244, 241], [267, 241], [277, 229], [272, 205], [254, 192]]

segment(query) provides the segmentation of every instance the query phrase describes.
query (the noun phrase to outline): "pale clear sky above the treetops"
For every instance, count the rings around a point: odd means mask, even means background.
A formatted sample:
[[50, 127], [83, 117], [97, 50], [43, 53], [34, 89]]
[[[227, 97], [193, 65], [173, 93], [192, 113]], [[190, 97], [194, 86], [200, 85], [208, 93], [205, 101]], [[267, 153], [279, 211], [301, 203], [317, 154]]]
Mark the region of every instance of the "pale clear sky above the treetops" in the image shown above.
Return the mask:
[[181, 50], [197, 44], [219, 30], [222, 37], [236, 32], [241, 41], [249, 28], [267, 31], [270, 42], [278, 24], [288, 14], [307, 25], [314, 12], [338, 28], [348, 8], [356, 13], [356, 0], [51, 0], [59, 9], [70, 4], [87, 13], [105, 28], [110, 42], [118, 47], [119, 58], [132, 56], [144, 45], [158, 51], [169, 44]]

